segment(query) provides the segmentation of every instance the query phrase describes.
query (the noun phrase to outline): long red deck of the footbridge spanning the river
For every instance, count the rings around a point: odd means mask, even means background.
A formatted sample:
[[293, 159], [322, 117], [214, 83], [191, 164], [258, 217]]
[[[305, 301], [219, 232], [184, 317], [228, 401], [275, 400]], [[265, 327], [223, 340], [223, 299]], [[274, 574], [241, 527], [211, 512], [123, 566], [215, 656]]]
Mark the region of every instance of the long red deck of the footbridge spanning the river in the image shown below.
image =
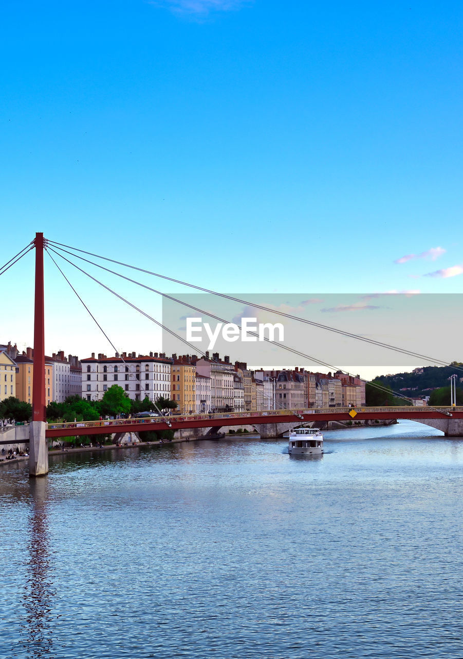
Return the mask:
[[222, 428], [222, 426], [256, 426], [267, 423], [297, 423], [309, 421], [351, 421], [354, 419], [388, 420], [407, 418], [419, 421], [431, 418], [463, 418], [463, 407], [329, 407], [304, 410], [267, 410], [261, 412], [234, 412], [213, 415], [169, 416], [170, 426], [164, 418], [124, 418], [74, 423], [49, 423], [47, 437], [110, 434], [114, 432], [140, 432], [146, 430], [180, 430], [181, 428]]

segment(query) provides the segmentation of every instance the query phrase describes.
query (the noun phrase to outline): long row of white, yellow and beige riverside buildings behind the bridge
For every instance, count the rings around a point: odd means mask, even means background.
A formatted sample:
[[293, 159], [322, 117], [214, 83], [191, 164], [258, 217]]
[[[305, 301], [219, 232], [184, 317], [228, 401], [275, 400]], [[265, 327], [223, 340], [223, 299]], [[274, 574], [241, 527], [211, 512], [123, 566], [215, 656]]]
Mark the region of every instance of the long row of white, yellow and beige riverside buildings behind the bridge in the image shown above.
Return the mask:
[[[33, 350], [19, 353], [16, 345], [0, 345], [0, 400], [10, 395], [32, 403]], [[45, 359], [46, 403], [70, 395], [100, 400], [114, 384], [128, 397], [173, 400], [181, 413], [220, 413], [347, 407], [365, 404], [365, 383], [359, 376], [313, 373], [295, 367], [251, 370], [245, 362], [230, 362], [218, 353], [210, 357], [164, 353], [95, 353], [78, 360], [59, 351]]]

